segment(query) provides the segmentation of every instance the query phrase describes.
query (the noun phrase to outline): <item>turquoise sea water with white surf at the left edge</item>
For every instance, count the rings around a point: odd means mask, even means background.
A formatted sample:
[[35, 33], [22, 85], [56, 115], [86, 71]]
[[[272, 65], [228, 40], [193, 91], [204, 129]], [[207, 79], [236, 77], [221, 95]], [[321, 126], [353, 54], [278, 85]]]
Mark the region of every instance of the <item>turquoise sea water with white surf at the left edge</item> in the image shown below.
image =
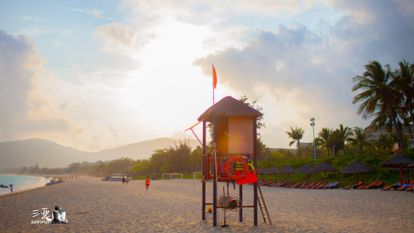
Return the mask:
[[[45, 186], [50, 180], [43, 176], [11, 176], [0, 175], [0, 184], [13, 185], [13, 192], [34, 189], [36, 187]], [[0, 187], [0, 196], [10, 194], [10, 188], [5, 189]]]

